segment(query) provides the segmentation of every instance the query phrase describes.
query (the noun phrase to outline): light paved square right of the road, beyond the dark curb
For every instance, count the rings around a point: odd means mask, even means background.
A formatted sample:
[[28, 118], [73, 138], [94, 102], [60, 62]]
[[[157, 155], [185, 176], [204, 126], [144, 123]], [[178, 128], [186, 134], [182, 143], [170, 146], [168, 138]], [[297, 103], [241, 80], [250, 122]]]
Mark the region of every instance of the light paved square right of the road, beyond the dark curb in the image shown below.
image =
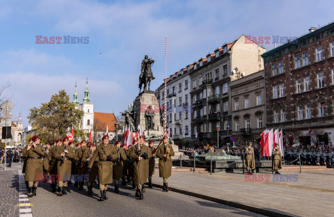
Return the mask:
[[[269, 182], [250, 181], [259, 181], [258, 175], [267, 175]], [[153, 176], [153, 183], [162, 185], [159, 172]], [[175, 191], [209, 196], [287, 216], [333, 216], [334, 170], [284, 172], [280, 177], [257, 173], [246, 178], [234, 173], [173, 173], [168, 179], [168, 186]]]

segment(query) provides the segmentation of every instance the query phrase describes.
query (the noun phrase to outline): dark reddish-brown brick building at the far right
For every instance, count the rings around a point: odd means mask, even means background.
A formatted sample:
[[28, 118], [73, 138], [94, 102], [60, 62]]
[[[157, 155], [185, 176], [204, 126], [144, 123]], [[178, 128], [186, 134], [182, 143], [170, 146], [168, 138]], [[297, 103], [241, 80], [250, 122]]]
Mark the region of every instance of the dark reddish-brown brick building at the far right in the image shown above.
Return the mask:
[[334, 23], [263, 54], [267, 127], [298, 135], [299, 145], [334, 140]]

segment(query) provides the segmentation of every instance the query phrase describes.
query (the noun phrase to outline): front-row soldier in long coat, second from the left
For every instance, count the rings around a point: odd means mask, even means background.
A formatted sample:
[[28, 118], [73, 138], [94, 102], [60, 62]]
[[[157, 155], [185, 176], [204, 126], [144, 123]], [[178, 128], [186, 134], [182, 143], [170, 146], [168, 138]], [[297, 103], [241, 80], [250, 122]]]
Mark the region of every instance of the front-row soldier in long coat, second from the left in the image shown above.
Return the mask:
[[58, 196], [66, 195], [67, 182], [71, 181], [72, 161], [78, 161], [75, 156], [74, 147], [68, 145], [69, 138], [63, 138], [63, 145], [57, 147], [55, 158], [57, 159], [58, 186], [60, 191]]

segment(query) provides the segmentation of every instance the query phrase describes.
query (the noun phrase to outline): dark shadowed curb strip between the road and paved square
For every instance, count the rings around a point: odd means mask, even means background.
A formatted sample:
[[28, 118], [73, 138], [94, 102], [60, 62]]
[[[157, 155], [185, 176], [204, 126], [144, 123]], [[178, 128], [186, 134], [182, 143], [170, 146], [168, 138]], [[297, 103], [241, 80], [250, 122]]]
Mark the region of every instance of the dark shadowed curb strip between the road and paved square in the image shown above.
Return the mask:
[[[154, 186], [156, 188], [163, 188], [163, 186], [161, 186], [159, 184], [152, 184], [152, 186]], [[228, 201], [228, 200], [214, 198], [214, 197], [210, 197], [210, 196], [207, 196], [207, 195], [202, 195], [200, 193], [193, 193], [193, 192], [190, 192], [190, 191], [184, 191], [184, 190], [178, 189], [178, 188], [171, 188], [170, 191], [174, 191], [176, 193], [182, 193], [184, 195], [189, 195], [189, 196], [194, 197], [194, 198], [200, 198], [200, 199], [203, 199], [203, 200], [209, 200], [211, 202], [216, 202], [218, 204], [223, 204], [223, 205], [226, 205], [226, 206], [229, 206], [229, 207], [234, 207], [234, 208], [238, 208], [238, 209], [244, 209], [246, 211], [251, 211], [251, 212], [253, 212], [255, 214], [261, 214], [261, 215], [264, 215], [264, 216], [292, 217], [291, 215], [282, 214], [282, 213], [280, 213], [278, 211], [271, 211], [271, 210], [268, 210], [268, 209], [262, 209], [262, 208], [258, 208], [258, 207], [250, 207], [248, 205], [241, 204], [239, 202], [232, 202], [232, 201]]]

